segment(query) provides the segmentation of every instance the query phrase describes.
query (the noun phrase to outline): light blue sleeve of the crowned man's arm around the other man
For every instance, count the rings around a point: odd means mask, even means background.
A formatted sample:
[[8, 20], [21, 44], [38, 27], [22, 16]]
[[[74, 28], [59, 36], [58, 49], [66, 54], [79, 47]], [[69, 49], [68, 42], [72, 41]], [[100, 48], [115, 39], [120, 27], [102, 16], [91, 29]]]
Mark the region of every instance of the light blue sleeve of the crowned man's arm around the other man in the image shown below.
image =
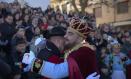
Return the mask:
[[67, 61], [61, 64], [54, 64], [50, 62], [44, 62], [43, 67], [40, 72], [41, 75], [48, 78], [60, 79], [64, 77], [68, 77], [68, 63]]

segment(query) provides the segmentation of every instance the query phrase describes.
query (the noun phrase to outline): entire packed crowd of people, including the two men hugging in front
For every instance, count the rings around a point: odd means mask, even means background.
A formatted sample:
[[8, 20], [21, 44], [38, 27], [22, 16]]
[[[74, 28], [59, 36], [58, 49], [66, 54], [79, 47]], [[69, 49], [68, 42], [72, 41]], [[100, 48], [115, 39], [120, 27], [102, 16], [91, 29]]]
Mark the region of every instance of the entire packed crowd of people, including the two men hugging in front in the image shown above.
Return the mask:
[[[28, 56], [32, 58], [28, 60]], [[34, 57], [33, 68], [27, 71]], [[95, 16], [89, 13], [0, 3], [0, 79], [85, 79], [93, 72], [99, 73], [100, 79], [131, 79], [130, 58], [130, 29], [109, 24], [96, 27]], [[44, 67], [42, 61], [48, 61]], [[57, 67], [51, 72], [48, 69], [53, 67], [46, 64], [59, 65], [61, 72]], [[79, 70], [81, 73], [76, 72]]]

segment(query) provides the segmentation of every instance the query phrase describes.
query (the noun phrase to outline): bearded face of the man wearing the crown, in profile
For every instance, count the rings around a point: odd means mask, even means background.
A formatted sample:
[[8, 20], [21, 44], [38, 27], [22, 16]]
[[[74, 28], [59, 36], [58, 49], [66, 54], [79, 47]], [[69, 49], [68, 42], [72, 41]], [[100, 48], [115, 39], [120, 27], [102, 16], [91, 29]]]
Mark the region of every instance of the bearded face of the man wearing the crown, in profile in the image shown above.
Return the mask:
[[65, 37], [65, 47], [71, 48], [78, 43], [79, 35], [73, 32], [70, 28], [67, 29]]

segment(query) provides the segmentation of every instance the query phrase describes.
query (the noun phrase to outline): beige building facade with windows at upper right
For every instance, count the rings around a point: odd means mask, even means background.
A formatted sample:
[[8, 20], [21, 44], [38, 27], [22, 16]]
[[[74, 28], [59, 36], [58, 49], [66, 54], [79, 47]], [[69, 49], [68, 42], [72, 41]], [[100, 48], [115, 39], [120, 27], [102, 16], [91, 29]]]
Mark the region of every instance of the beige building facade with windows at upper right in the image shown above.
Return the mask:
[[88, 7], [95, 13], [96, 23], [108, 23], [122, 28], [131, 28], [131, 0], [107, 0]]

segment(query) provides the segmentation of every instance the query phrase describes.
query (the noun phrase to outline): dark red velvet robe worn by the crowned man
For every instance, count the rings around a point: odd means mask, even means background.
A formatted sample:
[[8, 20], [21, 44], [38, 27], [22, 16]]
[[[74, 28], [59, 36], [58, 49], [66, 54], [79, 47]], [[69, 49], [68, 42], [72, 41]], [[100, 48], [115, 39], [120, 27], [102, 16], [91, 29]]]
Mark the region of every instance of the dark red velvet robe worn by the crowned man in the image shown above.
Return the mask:
[[88, 47], [81, 47], [68, 56], [69, 78], [85, 79], [93, 72], [98, 72], [95, 52]]

